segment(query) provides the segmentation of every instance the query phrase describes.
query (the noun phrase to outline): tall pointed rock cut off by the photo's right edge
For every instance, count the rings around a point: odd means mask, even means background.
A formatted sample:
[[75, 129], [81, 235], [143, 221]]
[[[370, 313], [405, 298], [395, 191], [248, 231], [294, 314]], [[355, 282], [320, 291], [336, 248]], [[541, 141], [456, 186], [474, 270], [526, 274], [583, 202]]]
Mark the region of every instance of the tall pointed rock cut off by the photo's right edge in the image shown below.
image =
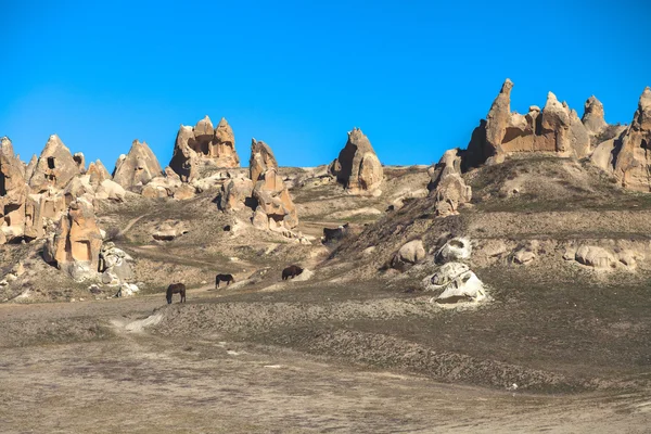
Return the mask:
[[613, 174], [623, 187], [651, 191], [651, 88], [640, 97], [633, 122], [614, 142]]

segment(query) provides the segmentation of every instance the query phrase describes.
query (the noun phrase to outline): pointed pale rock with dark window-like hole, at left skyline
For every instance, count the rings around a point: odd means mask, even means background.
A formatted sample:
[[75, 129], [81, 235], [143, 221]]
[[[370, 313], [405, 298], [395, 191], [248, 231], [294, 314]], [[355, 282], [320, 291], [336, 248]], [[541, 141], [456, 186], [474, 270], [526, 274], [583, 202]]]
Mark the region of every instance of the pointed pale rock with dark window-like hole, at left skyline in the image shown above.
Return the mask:
[[64, 189], [77, 175], [79, 175], [79, 166], [71, 151], [59, 136], [52, 135], [38, 158], [29, 179], [29, 187], [34, 193], [42, 193], [50, 187]]

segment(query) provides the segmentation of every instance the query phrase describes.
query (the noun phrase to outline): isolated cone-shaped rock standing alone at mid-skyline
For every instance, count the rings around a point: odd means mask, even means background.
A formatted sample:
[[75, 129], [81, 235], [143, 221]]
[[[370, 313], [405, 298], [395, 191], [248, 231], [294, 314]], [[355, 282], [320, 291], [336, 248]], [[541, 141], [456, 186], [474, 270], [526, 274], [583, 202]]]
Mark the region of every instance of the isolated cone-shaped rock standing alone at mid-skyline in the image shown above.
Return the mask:
[[359, 128], [348, 132], [348, 141], [330, 173], [352, 194], [378, 194], [384, 177], [382, 164], [369, 139]]

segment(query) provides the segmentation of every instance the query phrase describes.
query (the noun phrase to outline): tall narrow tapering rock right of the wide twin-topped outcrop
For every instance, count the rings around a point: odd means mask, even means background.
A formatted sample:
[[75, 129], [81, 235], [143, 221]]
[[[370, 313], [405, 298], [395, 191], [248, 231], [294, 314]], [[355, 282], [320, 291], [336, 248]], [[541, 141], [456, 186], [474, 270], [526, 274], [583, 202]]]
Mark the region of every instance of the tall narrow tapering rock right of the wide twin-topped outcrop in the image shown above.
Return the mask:
[[282, 177], [278, 175], [273, 152], [263, 141], [252, 140], [250, 170], [254, 182], [252, 195], [257, 201], [254, 226], [279, 232], [298, 226], [296, 206]]

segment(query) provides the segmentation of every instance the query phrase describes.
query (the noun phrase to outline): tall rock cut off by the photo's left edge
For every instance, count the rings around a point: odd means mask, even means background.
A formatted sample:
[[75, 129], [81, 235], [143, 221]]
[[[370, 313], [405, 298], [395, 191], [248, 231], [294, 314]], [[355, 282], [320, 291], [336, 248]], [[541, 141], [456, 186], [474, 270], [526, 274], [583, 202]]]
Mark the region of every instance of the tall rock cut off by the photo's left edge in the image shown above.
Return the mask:
[[24, 234], [27, 194], [23, 164], [14, 156], [11, 140], [3, 137], [0, 143], [0, 244]]

